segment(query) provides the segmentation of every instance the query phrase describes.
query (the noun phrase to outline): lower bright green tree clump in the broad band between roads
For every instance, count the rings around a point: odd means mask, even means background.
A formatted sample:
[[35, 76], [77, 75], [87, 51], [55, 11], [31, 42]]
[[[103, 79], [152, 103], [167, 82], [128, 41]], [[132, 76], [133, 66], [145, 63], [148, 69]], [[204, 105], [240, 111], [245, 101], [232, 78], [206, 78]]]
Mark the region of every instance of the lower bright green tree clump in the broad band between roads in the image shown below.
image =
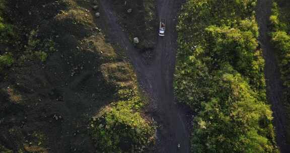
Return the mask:
[[277, 152], [272, 112], [236, 72], [220, 71], [215, 96], [194, 118], [194, 152]]

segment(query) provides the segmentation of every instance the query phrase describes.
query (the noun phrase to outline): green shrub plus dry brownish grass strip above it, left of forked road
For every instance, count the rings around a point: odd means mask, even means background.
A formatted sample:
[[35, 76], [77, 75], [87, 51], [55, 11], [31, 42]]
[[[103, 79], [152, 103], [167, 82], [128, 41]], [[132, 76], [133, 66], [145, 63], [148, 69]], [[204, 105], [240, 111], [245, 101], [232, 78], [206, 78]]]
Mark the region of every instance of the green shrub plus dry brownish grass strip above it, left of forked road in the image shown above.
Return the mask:
[[90, 122], [96, 149], [103, 152], [146, 152], [155, 141], [155, 125], [142, 116], [146, 99], [137, 89], [132, 67], [124, 63], [102, 65], [108, 82], [118, 85], [115, 102], [105, 106]]

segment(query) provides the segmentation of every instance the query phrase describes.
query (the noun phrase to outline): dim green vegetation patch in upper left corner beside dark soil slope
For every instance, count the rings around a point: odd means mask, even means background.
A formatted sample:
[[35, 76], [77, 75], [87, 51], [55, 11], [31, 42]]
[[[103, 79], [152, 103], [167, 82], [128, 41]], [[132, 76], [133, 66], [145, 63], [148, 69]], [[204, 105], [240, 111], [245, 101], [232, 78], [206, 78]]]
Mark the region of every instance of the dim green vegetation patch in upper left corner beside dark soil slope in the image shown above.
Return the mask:
[[[38, 38], [38, 31], [32, 30], [28, 35], [28, 41], [21, 40], [17, 34], [17, 26], [5, 19], [7, 1], [0, 1], [0, 43], [5, 48], [0, 55], [0, 71], [10, 67], [13, 63], [23, 64], [27, 61], [44, 62], [49, 53], [54, 52], [55, 43], [51, 39]], [[14, 50], [12, 52], [12, 50]], [[21, 50], [21, 51], [20, 51]]]

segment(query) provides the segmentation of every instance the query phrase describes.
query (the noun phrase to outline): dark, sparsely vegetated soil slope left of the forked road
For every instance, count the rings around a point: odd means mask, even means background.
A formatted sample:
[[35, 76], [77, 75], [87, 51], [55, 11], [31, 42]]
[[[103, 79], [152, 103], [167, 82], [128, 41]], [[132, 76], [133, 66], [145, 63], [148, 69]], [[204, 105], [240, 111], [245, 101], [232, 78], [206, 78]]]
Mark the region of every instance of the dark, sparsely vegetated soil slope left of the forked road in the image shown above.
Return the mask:
[[[69, 0], [10, 2], [9, 15], [21, 26], [23, 43], [38, 29], [37, 39], [51, 38], [58, 51], [45, 63], [16, 65], [4, 80], [0, 77], [0, 144], [14, 152], [95, 152], [88, 121], [114, 101], [117, 90], [102, 68], [124, 65], [121, 57], [110, 55], [114, 49], [95, 29], [105, 29], [102, 19], [91, 23], [91, 2], [82, 7]], [[74, 17], [88, 24], [77, 24]]]

